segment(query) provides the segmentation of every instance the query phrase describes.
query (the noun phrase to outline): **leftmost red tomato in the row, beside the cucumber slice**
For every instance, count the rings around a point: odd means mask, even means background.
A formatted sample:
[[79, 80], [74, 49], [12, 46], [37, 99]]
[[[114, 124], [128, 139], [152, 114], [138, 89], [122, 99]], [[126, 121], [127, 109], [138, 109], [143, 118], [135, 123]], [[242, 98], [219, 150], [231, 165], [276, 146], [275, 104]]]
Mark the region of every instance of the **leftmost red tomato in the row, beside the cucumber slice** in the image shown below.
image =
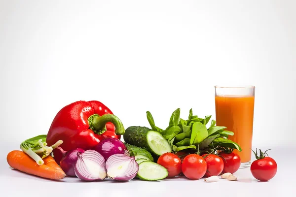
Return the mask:
[[168, 172], [169, 172], [168, 177], [169, 178], [175, 177], [182, 172], [181, 159], [177, 155], [175, 155], [174, 153], [162, 154], [158, 158], [157, 164], [164, 166], [168, 170]]

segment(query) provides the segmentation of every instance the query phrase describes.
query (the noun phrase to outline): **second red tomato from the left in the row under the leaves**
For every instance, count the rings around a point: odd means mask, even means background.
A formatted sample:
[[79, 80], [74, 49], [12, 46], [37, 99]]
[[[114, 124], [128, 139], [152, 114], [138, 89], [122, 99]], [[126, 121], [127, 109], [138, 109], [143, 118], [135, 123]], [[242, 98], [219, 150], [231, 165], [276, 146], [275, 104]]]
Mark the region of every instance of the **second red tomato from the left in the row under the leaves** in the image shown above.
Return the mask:
[[197, 154], [187, 155], [182, 163], [182, 172], [188, 179], [197, 180], [202, 178], [207, 171], [207, 163]]

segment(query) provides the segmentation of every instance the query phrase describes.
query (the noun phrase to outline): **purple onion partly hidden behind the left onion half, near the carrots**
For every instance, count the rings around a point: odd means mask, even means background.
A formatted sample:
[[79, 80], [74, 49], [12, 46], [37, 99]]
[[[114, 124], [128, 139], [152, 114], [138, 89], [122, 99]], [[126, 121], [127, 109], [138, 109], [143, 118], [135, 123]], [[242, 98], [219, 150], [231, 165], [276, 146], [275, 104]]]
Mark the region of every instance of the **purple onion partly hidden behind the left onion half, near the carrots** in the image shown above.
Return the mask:
[[77, 156], [78, 152], [84, 153], [85, 151], [82, 148], [76, 148], [74, 150], [70, 150], [64, 155], [64, 157], [60, 162], [61, 168], [68, 176], [76, 176], [74, 171], [74, 166], [78, 159], [78, 156]]

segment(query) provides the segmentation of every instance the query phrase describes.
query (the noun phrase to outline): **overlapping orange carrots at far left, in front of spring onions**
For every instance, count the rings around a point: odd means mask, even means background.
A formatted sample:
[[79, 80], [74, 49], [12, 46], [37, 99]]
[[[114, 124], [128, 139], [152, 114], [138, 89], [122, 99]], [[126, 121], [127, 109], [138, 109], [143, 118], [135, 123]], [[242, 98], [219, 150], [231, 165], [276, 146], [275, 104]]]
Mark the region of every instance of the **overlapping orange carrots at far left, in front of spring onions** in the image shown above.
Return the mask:
[[38, 165], [29, 155], [19, 150], [8, 153], [7, 163], [14, 169], [43, 178], [59, 180], [66, 176], [63, 170], [57, 169], [51, 158], [46, 159], [44, 164]]

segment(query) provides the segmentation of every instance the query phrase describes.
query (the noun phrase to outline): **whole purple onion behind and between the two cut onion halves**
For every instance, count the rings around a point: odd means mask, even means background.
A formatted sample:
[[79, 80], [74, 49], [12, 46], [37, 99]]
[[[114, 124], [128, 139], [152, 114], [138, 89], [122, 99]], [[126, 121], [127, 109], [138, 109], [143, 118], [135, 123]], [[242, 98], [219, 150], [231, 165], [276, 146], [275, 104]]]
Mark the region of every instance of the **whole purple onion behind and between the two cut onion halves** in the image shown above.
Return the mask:
[[93, 149], [98, 151], [104, 157], [105, 161], [114, 154], [128, 154], [124, 143], [120, 139], [111, 137], [103, 139]]

